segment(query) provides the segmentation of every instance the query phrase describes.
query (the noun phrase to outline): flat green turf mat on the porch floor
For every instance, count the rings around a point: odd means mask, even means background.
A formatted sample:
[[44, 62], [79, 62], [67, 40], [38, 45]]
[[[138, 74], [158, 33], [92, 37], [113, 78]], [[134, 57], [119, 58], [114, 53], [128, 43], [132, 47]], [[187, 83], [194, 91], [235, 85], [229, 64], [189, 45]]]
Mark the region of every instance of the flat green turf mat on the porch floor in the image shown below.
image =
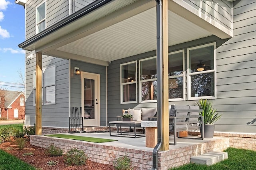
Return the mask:
[[44, 136], [56, 137], [56, 138], [65, 138], [65, 139], [74, 139], [74, 140], [82, 140], [86, 142], [95, 142], [95, 143], [103, 143], [103, 142], [113, 142], [118, 140], [112, 139], [103, 139], [103, 138], [92, 138], [86, 136], [75, 136], [75, 135], [68, 135], [68, 134], [47, 134]]

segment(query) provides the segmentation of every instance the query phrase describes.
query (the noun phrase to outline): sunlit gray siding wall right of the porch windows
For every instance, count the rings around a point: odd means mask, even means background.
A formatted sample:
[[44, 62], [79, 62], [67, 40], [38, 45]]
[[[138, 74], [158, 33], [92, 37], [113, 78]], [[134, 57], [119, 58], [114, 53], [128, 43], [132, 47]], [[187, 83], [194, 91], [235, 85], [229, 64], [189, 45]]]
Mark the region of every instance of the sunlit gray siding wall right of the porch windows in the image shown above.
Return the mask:
[[233, 2], [233, 38], [217, 49], [216, 130], [255, 132], [256, 2]]

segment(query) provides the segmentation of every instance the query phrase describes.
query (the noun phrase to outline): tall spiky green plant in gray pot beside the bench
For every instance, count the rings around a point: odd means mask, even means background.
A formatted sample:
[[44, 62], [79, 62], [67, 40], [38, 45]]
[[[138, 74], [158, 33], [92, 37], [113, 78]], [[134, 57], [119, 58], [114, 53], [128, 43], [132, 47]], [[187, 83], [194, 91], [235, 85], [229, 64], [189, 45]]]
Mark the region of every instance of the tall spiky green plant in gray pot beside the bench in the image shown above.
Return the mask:
[[204, 137], [213, 138], [215, 129], [214, 123], [220, 119], [222, 114], [219, 114], [217, 109], [212, 107], [212, 101], [207, 99], [201, 99], [196, 104], [202, 109], [200, 114], [204, 116]]

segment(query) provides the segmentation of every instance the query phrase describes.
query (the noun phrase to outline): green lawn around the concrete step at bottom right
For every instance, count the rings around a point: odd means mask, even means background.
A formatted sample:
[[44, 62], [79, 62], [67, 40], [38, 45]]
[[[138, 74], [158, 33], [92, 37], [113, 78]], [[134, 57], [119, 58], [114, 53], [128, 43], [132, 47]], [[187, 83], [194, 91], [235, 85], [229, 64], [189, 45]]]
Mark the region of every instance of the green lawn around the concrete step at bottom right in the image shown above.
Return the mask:
[[224, 152], [228, 159], [211, 166], [186, 164], [169, 170], [256, 170], [256, 151], [228, 148]]

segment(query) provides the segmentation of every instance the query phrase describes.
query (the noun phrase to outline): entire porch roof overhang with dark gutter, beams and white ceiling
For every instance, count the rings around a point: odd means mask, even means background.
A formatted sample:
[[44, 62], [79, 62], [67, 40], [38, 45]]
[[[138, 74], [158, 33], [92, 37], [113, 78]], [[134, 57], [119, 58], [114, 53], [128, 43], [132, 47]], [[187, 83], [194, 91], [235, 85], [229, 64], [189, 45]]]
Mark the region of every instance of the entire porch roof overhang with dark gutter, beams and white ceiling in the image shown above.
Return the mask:
[[[156, 2], [123, 2], [95, 1], [19, 47], [99, 65], [156, 50]], [[168, 30], [169, 46], [212, 35], [232, 37], [232, 32], [180, 0], [168, 1]]]

